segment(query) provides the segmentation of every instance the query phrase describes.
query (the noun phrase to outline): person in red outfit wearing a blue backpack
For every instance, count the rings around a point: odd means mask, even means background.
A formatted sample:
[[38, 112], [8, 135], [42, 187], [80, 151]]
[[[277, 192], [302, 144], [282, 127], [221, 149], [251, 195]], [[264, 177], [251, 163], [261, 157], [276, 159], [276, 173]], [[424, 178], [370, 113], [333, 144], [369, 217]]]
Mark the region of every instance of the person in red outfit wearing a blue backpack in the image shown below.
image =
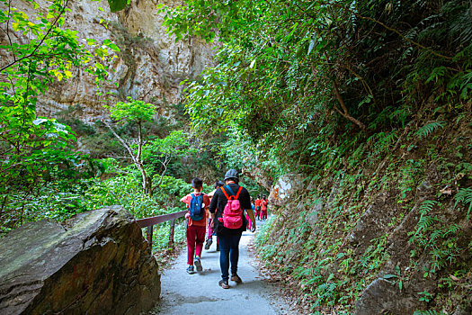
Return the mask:
[[201, 192], [203, 182], [199, 177], [191, 180], [191, 188], [193, 188], [193, 193], [189, 193], [181, 199], [181, 202], [185, 202], [189, 208], [189, 212], [185, 214], [185, 218], [188, 219], [185, 235], [187, 237], [187, 273], [190, 275], [195, 273], [193, 265], [197, 267], [197, 271], [203, 270], [200, 257], [205, 241], [209, 207], [209, 196]]

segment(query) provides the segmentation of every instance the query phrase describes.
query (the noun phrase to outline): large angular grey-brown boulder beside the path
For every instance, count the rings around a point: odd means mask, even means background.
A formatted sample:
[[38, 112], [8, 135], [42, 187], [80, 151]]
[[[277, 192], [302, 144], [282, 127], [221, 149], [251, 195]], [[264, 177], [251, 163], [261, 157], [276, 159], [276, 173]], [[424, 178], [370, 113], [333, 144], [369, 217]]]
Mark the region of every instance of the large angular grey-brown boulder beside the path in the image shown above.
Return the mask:
[[27, 223], [0, 242], [1, 314], [138, 314], [160, 286], [156, 259], [120, 206]]

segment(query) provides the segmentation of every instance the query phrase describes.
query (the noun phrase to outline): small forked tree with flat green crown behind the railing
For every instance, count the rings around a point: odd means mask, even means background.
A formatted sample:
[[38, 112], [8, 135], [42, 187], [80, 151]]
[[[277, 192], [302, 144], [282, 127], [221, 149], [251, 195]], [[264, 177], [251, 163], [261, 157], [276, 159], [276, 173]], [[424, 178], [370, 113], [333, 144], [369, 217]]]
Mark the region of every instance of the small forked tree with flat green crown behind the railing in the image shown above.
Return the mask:
[[[146, 121], [152, 121], [156, 114], [156, 105], [143, 101], [133, 100], [128, 97], [129, 103], [119, 102], [114, 106], [105, 106], [111, 112], [111, 118], [119, 124], [132, 123], [138, 127], [138, 139], [123, 139], [109, 123], [106, 123], [113, 135], [119, 139], [121, 145], [128, 151], [133, 164], [141, 173], [143, 193], [153, 195], [156, 188], [162, 183], [167, 166], [173, 157], [183, 156], [187, 152], [189, 143], [187, 134], [173, 131], [164, 139], [146, 140], [143, 127]], [[157, 184], [153, 183], [155, 171], [145, 166], [145, 159], [157, 159], [162, 164], [160, 179]]]

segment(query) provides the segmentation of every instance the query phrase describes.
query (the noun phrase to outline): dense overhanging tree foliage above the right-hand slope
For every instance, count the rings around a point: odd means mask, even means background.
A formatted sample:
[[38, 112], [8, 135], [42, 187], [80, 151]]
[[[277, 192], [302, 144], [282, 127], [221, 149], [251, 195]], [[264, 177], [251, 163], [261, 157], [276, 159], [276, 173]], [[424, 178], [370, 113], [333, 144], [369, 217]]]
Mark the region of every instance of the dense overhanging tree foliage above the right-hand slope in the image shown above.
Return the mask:
[[161, 6], [169, 32], [220, 43], [218, 66], [187, 82], [192, 124], [247, 135], [255, 160], [325, 169], [370, 134], [405, 128], [425, 99], [437, 113], [469, 102], [466, 0], [185, 4]]

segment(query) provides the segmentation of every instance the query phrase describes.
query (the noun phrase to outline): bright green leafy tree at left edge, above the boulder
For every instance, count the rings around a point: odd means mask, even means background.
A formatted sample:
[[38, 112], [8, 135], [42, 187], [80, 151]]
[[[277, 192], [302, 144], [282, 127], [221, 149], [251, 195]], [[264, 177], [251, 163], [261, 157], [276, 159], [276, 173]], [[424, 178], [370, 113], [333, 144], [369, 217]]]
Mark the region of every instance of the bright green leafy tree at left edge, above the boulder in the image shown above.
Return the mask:
[[54, 177], [74, 176], [86, 158], [74, 151], [76, 136], [68, 126], [36, 115], [38, 96], [53, 81], [67, 81], [76, 67], [98, 85], [114, 56], [107, 47], [120, 50], [111, 40], [83, 44], [76, 31], [64, 28], [68, 0], [49, 1], [45, 10], [28, 2], [30, 16], [0, 0], [0, 220], [12, 219], [10, 227], [22, 223], [25, 199]]

